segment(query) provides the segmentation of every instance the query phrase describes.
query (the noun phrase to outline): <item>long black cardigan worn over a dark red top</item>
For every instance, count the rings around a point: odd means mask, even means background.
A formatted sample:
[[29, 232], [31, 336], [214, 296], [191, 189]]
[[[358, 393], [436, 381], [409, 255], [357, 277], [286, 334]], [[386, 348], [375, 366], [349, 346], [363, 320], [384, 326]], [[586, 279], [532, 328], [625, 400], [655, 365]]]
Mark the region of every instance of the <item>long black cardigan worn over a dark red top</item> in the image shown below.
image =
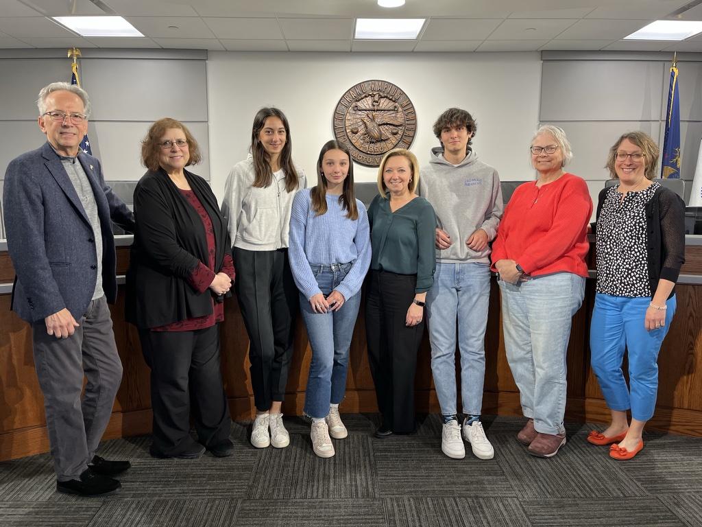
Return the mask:
[[[200, 176], [185, 171], [206, 210], [215, 235], [215, 272], [231, 250], [227, 223], [217, 198]], [[136, 229], [126, 275], [126, 320], [141, 328], [212, 313], [212, 293], [198, 293], [187, 277], [207, 265], [204, 224], [166, 171], [147, 171], [134, 189]]]

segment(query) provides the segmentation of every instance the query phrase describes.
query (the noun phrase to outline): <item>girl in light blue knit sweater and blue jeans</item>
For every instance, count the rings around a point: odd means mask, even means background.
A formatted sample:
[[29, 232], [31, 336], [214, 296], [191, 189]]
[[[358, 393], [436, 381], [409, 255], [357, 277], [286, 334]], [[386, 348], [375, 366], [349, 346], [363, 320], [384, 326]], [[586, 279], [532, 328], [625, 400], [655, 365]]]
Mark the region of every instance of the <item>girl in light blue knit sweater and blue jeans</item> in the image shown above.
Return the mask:
[[339, 403], [361, 285], [371, 263], [368, 214], [354, 195], [353, 164], [345, 145], [328, 141], [319, 152], [317, 186], [300, 190], [290, 216], [290, 265], [312, 348], [305, 414], [312, 417], [312, 448], [332, 457], [331, 437], [346, 427]]

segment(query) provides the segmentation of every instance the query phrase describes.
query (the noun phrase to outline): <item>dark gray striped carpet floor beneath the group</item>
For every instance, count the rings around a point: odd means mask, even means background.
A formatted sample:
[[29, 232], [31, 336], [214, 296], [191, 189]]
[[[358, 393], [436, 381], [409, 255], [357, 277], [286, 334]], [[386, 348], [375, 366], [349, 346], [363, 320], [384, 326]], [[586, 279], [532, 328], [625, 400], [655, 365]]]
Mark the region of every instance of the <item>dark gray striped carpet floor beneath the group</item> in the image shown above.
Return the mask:
[[[310, 426], [285, 418], [291, 444], [257, 450], [250, 424], [232, 427], [233, 457], [150, 457], [148, 437], [105, 441], [100, 455], [127, 459], [119, 492], [55, 492], [49, 455], [0, 463], [0, 526], [702, 526], [702, 438], [645, 434], [618, 462], [585, 441], [593, 427], [567, 424], [550, 460], [517, 443], [523, 419], [484, 418], [493, 460], [451, 460], [439, 416], [416, 434], [377, 439], [377, 415], [343, 415], [349, 436], [336, 457], [312, 453]], [[602, 427], [594, 427], [602, 429]]]

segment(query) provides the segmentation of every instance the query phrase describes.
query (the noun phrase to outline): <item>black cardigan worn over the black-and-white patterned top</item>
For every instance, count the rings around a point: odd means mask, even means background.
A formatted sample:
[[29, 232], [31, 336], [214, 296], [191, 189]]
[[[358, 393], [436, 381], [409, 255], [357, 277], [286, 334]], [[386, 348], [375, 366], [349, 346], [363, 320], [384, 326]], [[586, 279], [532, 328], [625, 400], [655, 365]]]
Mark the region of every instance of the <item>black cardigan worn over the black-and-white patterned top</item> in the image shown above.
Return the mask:
[[[592, 233], [597, 233], [597, 219], [611, 187], [600, 190], [597, 214]], [[658, 280], [677, 282], [680, 268], [685, 263], [685, 204], [680, 196], [660, 186], [646, 204], [647, 262], [651, 297], [656, 293]], [[675, 294], [675, 287], [670, 297]]]

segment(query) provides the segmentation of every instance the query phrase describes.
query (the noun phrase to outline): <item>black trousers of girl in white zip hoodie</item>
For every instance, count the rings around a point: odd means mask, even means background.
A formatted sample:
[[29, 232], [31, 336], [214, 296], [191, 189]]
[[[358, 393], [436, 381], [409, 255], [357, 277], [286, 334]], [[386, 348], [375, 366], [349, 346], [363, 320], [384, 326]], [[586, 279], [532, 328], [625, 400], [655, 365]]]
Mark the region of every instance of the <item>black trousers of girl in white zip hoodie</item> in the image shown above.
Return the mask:
[[288, 249], [248, 251], [234, 247], [234, 290], [249, 334], [253, 401], [259, 411], [284, 401], [300, 311]]

